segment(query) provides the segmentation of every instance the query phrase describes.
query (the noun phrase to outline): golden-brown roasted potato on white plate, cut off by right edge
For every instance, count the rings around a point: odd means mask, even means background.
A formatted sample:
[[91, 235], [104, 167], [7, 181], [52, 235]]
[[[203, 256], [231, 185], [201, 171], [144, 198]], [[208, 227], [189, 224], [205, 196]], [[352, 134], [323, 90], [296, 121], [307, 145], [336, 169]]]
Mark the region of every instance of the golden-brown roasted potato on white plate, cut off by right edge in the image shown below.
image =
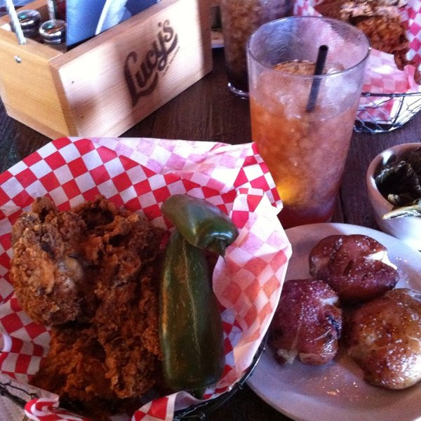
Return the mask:
[[421, 380], [421, 293], [391, 290], [357, 309], [347, 330], [367, 382], [405, 389]]

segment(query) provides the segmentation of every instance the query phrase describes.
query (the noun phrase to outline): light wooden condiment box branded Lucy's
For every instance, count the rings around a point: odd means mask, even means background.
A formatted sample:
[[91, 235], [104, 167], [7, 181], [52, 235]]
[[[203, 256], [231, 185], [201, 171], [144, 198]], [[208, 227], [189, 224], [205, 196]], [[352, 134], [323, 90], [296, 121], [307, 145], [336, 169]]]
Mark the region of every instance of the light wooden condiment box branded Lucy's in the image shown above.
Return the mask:
[[[45, 0], [27, 4], [48, 20]], [[159, 3], [62, 53], [0, 19], [0, 95], [49, 138], [119, 136], [212, 69], [208, 0]]]

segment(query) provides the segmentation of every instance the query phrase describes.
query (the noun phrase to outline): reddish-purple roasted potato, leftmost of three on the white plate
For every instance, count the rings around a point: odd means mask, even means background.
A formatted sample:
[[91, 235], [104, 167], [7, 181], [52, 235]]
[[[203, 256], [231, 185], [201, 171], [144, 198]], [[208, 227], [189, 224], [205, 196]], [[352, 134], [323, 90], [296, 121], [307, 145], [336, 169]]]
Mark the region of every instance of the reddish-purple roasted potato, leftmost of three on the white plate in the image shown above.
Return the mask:
[[323, 281], [291, 279], [283, 285], [269, 328], [269, 345], [280, 363], [321, 365], [338, 352], [342, 310], [338, 295]]

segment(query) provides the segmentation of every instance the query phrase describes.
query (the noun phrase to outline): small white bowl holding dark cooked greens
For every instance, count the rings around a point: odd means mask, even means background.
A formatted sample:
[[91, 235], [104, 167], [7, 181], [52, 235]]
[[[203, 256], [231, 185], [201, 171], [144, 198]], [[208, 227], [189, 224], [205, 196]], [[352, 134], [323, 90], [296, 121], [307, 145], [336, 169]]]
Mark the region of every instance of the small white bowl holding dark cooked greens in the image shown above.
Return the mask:
[[386, 149], [371, 161], [366, 174], [368, 199], [370, 199], [371, 206], [373, 207], [377, 225], [379, 225], [382, 231], [401, 239], [408, 246], [415, 248], [415, 250], [421, 250], [421, 218], [405, 216], [388, 220], [382, 219], [382, 215], [392, 210], [393, 206], [378, 191], [375, 185], [374, 175], [377, 168], [391, 161], [394, 156], [419, 147], [421, 147], [421, 143], [404, 143], [403, 145], [396, 145]]

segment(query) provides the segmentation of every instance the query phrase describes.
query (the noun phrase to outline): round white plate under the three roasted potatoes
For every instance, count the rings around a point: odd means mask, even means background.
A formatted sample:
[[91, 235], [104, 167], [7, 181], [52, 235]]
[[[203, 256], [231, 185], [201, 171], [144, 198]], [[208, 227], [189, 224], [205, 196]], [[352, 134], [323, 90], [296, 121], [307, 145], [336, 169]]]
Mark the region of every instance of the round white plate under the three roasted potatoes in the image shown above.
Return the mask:
[[[325, 236], [365, 234], [389, 250], [400, 273], [397, 287], [421, 290], [421, 253], [393, 236], [347, 224], [303, 225], [287, 229], [286, 234], [293, 246], [287, 280], [309, 277], [309, 251]], [[247, 383], [270, 406], [297, 421], [421, 420], [421, 383], [401, 391], [370, 386], [345, 352], [324, 366], [299, 361], [281, 366], [267, 347]]]

